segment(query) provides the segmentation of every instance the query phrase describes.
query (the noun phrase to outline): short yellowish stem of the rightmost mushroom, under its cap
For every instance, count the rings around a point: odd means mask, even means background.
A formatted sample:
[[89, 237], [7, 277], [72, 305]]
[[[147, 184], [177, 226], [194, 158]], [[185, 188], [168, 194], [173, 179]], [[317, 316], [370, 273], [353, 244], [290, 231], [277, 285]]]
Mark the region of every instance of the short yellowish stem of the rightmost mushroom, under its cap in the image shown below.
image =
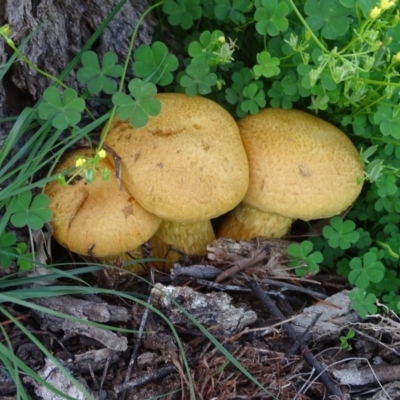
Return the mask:
[[236, 240], [249, 240], [255, 237], [281, 238], [286, 235], [292, 222], [292, 218], [260, 211], [248, 204], [240, 203], [227, 214], [217, 236]]

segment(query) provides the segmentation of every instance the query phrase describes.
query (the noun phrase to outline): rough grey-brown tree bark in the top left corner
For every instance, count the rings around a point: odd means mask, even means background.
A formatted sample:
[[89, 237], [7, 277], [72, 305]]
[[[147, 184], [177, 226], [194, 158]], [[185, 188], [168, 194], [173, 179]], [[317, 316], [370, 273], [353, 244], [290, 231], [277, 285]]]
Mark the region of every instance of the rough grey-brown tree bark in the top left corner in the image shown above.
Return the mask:
[[[2, 0], [0, 26], [9, 24], [10, 37], [16, 45], [35, 31], [23, 54], [39, 68], [58, 76], [120, 1]], [[100, 59], [107, 51], [113, 51], [122, 63], [132, 30], [147, 7], [147, 0], [126, 0], [91, 50]], [[151, 17], [145, 19], [139, 28], [135, 45], [151, 41], [154, 25]], [[0, 66], [12, 54], [13, 51], [0, 38]], [[74, 71], [65, 82], [77, 89]], [[0, 82], [0, 118], [18, 115], [25, 106], [33, 105], [49, 83], [47, 78], [18, 60]], [[0, 145], [2, 129], [4, 134], [3, 125], [0, 126]]]

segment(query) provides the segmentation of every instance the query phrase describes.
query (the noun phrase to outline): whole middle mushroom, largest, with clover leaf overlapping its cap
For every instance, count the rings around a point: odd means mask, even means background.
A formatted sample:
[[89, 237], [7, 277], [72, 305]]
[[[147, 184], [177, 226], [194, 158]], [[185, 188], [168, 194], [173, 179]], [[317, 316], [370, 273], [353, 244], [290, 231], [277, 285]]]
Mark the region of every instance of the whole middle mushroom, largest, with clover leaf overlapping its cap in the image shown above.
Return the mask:
[[157, 98], [157, 117], [140, 129], [115, 119], [105, 143], [121, 159], [128, 191], [163, 219], [151, 241], [154, 255], [171, 248], [204, 255], [215, 239], [210, 219], [247, 191], [246, 153], [235, 120], [217, 103], [179, 93]]

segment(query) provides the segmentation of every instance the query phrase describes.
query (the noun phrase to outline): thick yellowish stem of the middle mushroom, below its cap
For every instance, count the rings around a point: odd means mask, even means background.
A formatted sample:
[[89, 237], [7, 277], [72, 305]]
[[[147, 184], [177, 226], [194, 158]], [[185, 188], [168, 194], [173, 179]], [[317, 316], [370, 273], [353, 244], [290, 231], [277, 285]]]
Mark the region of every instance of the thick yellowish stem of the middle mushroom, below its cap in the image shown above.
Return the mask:
[[213, 240], [215, 234], [210, 220], [189, 223], [162, 220], [158, 231], [150, 239], [150, 244], [153, 246], [154, 257], [171, 261], [164, 263], [162, 268], [169, 270], [182, 254], [207, 254], [207, 245]]

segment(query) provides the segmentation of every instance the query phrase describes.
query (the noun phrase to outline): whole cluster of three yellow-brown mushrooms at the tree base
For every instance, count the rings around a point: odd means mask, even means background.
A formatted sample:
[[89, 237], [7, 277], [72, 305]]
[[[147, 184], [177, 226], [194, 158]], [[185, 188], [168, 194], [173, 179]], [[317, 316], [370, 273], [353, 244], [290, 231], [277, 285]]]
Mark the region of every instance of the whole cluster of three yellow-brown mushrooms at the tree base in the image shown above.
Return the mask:
[[[111, 156], [100, 161], [108, 182], [47, 185], [53, 236], [68, 250], [113, 262], [140, 258], [150, 241], [153, 257], [204, 255], [216, 237], [281, 238], [294, 219], [337, 215], [361, 191], [356, 148], [320, 118], [269, 108], [235, 121], [204, 97], [157, 98], [161, 113], [145, 127], [112, 122], [105, 144], [120, 159], [122, 188]], [[55, 173], [90, 155], [67, 154]], [[211, 220], [223, 214], [215, 232]]]

